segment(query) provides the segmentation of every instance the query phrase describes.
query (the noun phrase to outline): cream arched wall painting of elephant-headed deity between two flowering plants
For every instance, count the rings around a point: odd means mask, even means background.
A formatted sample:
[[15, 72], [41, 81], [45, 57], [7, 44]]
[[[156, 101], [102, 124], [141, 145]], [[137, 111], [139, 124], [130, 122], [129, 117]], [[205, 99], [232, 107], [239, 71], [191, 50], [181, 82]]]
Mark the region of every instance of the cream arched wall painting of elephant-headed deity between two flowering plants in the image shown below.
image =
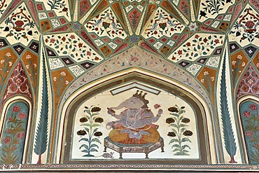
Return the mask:
[[190, 104], [165, 91], [153, 95], [132, 88], [114, 93], [107, 90], [78, 107], [71, 160], [145, 158], [145, 147], [152, 148], [146, 158], [200, 159]]

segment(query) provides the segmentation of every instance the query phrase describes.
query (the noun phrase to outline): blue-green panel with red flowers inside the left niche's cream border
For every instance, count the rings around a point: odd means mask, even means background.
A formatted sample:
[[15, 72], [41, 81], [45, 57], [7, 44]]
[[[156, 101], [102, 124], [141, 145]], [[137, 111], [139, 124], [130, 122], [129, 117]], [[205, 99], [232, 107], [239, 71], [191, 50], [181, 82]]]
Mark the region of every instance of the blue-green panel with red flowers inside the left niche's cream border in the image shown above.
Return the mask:
[[8, 107], [1, 132], [1, 163], [22, 163], [28, 114], [29, 106], [24, 102], [15, 102]]

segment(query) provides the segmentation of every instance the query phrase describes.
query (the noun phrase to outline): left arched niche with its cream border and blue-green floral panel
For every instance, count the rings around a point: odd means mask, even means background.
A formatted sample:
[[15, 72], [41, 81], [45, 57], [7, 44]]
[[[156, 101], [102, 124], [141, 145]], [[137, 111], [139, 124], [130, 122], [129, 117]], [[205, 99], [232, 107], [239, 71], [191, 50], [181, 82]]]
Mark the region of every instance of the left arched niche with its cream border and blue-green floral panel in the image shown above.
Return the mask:
[[16, 96], [3, 105], [1, 116], [0, 162], [24, 163], [27, 153], [31, 104], [26, 97]]

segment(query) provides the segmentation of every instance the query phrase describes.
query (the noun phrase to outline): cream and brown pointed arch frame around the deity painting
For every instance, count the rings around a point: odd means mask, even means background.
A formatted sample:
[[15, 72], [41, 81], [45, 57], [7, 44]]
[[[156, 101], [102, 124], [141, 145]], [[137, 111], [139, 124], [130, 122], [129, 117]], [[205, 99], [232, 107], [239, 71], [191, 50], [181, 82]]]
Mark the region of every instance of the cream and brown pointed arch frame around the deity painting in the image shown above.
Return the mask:
[[[102, 92], [102, 90], [113, 88], [116, 85], [120, 85], [127, 80], [137, 80], [137, 81], [142, 81], [144, 83], [150, 83], [150, 81], [156, 81], [156, 83], [159, 83], [160, 88], [171, 93], [172, 93], [172, 89], [174, 91], [178, 91], [181, 93], [183, 92], [187, 93], [187, 90], [190, 90], [190, 88], [184, 86], [181, 83], [177, 83], [176, 81], [172, 81], [172, 79], [170, 78], [165, 78], [165, 76], [159, 76], [158, 74], [153, 74], [150, 71], [144, 71], [139, 68], [127, 69], [125, 71], [120, 71], [116, 74], [111, 74], [110, 76], [99, 79], [98, 81], [93, 81], [89, 85], [85, 86], [84, 88], [81, 88], [76, 93], [71, 95], [71, 97], [69, 97], [69, 99], [66, 100], [64, 106], [62, 107], [62, 116], [60, 117], [60, 123], [59, 123], [60, 125], [59, 125], [58, 133], [62, 134], [63, 136], [58, 137], [58, 134], [56, 134], [57, 139], [59, 139], [59, 141], [57, 141], [57, 148], [55, 148], [55, 151], [57, 151], [56, 153], [57, 155], [53, 157], [53, 158], [59, 158], [59, 160], [56, 160], [56, 162], [59, 162], [59, 163], [69, 162], [68, 160], [66, 160], [68, 150], [65, 148], [70, 147], [69, 143], [71, 141], [69, 141], [70, 135], [66, 134], [66, 132], [69, 131], [68, 128], [71, 128], [71, 125], [69, 126], [68, 123], [71, 121], [71, 117], [73, 118], [72, 112], [76, 110], [75, 105], [78, 105], [78, 103], [80, 104], [80, 102], [83, 102], [83, 100], [97, 94], [98, 92]], [[188, 92], [188, 95], [185, 95], [185, 94], [183, 95], [184, 97], [193, 99], [193, 102], [196, 104], [196, 108], [200, 109], [200, 114], [202, 115], [200, 116], [200, 120], [198, 119], [197, 122], [199, 123], [198, 125], [199, 132], [202, 132], [204, 134], [203, 135], [204, 137], [202, 139], [203, 141], [202, 143], [200, 141], [200, 144], [203, 144], [203, 146], [205, 146], [206, 149], [204, 150], [205, 152], [202, 153], [202, 160], [200, 161], [200, 163], [202, 164], [216, 163], [217, 158], [215, 153], [216, 153], [217, 144], [216, 142], [214, 142], [215, 139], [214, 139], [213, 130], [208, 130], [208, 128], [212, 127], [213, 125], [213, 120], [211, 118], [211, 110], [209, 109], [209, 105], [207, 105], [207, 102], [204, 101], [204, 99], [202, 99], [202, 97], [200, 97], [199, 94], [195, 91], [193, 91], [192, 93]], [[69, 163], [75, 163], [75, 162], [69, 162]], [[177, 162], [174, 161], [174, 163], [177, 163]], [[179, 161], [178, 163], [183, 164], [183, 160]], [[188, 162], [188, 163], [196, 164], [197, 161]]]

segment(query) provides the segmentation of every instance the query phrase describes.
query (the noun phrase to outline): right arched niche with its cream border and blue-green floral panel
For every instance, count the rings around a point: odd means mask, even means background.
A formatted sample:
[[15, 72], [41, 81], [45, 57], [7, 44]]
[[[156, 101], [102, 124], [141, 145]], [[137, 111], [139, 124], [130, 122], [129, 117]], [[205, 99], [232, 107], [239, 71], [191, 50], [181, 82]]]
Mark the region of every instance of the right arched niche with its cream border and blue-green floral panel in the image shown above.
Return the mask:
[[251, 165], [259, 164], [259, 98], [246, 96], [239, 99], [239, 120], [243, 134], [244, 155]]

